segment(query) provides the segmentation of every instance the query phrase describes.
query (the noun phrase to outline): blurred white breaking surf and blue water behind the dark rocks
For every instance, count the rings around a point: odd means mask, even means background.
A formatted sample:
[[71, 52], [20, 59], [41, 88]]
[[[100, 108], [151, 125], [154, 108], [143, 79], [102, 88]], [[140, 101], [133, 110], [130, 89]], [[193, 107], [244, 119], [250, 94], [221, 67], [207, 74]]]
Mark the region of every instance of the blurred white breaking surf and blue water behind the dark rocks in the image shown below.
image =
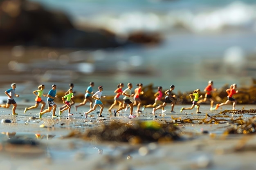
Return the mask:
[[255, 31], [254, 0], [33, 1], [65, 11], [74, 24], [105, 27], [119, 34], [136, 30], [199, 34], [224, 33], [232, 28]]

